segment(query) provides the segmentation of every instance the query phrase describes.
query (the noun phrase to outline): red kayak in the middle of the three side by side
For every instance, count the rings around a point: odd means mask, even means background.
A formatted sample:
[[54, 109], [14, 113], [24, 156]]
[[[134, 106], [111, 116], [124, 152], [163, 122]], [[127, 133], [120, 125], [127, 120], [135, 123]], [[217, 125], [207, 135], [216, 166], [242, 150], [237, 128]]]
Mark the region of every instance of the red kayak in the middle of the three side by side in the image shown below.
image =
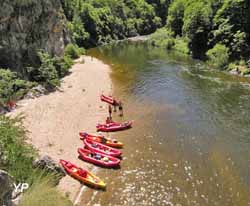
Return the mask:
[[92, 152], [97, 152], [113, 157], [119, 157], [122, 154], [120, 150], [114, 149], [99, 142], [94, 142], [88, 139], [84, 139], [83, 142], [85, 144], [85, 147]]

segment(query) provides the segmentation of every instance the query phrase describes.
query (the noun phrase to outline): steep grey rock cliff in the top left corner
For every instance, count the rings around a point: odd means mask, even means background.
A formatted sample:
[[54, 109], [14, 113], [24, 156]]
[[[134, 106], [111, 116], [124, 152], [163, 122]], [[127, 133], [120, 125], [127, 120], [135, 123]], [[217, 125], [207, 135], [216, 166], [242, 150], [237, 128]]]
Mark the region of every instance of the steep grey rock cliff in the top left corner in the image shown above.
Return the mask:
[[36, 52], [60, 56], [70, 41], [60, 0], [0, 0], [0, 67], [24, 74]]

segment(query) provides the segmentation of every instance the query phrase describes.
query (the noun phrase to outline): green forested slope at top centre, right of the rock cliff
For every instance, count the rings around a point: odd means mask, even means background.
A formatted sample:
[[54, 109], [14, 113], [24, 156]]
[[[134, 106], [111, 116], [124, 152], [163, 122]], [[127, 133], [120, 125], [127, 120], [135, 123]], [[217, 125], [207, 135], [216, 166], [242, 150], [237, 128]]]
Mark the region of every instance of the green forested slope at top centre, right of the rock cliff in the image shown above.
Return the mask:
[[154, 32], [165, 24], [166, 0], [61, 0], [78, 46]]

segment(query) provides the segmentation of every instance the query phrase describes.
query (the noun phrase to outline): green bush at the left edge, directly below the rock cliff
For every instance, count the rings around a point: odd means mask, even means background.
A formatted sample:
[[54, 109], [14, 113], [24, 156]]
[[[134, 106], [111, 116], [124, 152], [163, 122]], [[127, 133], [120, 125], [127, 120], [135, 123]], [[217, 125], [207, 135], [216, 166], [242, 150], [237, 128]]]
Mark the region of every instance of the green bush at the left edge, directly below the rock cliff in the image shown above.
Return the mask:
[[9, 100], [19, 99], [31, 87], [32, 83], [22, 80], [17, 73], [9, 69], [0, 69], [0, 102], [6, 103]]

